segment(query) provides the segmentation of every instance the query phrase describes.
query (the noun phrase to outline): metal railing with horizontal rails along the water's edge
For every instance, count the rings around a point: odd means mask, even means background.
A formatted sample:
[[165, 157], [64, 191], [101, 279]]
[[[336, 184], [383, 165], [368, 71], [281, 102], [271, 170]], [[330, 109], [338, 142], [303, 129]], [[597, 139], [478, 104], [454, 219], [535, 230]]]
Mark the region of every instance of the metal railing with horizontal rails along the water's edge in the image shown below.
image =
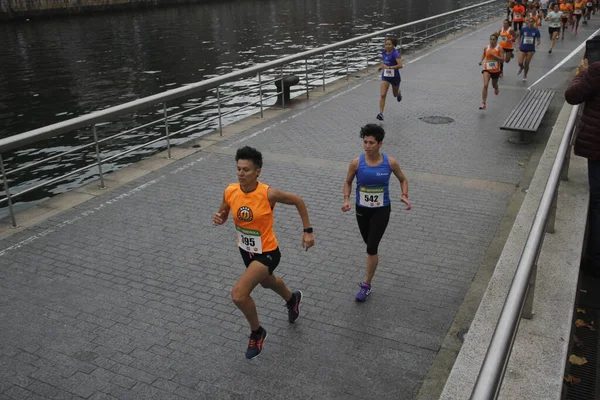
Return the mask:
[[[314, 89], [315, 87], [322, 86], [324, 91], [326, 84], [331, 81], [340, 79], [343, 76], [348, 79], [350, 73], [355, 71], [365, 70], [367, 73], [369, 73], [370, 65], [379, 64], [380, 58], [378, 55], [375, 56], [377, 52], [375, 51], [375, 45], [372, 43], [373, 39], [380, 39], [385, 37], [386, 34], [394, 33], [395, 36], [398, 37], [399, 47], [405, 52], [407, 50], [415, 49], [431, 43], [441, 37], [447, 37], [450, 33], [456, 33], [462, 28], [488, 20], [490, 17], [497, 16], [501, 12], [504, 12], [504, 10], [504, 1], [502, 0], [484, 1], [482, 3], [463, 7], [458, 10], [424, 18], [407, 24], [386, 28], [374, 33], [304, 51], [270, 62], [260, 63], [252, 67], [234, 71], [222, 76], [206, 79], [201, 82], [185, 85], [183, 87], [168, 90], [153, 96], [144, 97], [139, 100], [134, 100], [63, 122], [48, 125], [39, 129], [0, 139], [0, 172], [2, 173], [2, 181], [4, 186], [4, 197], [0, 198], [0, 207], [2, 207], [3, 204], [8, 205], [12, 226], [16, 227], [17, 222], [13, 209], [13, 199], [19, 196], [24, 196], [25, 194], [34, 192], [42, 187], [56, 184], [57, 182], [69, 176], [80, 174], [93, 168], [97, 168], [97, 175], [100, 178], [100, 187], [104, 188], [105, 171], [103, 170], [103, 166], [106, 166], [107, 163], [113, 162], [124, 155], [136, 152], [144, 147], [148, 147], [159, 142], [166, 142], [167, 155], [168, 158], [171, 158], [171, 140], [177, 135], [182, 136], [194, 129], [210, 126], [214, 126], [215, 128], [218, 127], [219, 133], [222, 135], [224, 117], [233, 115], [235, 113], [239, 114], [241, 110], [254, 107], [256, 112], [260, 112], [260, 117], [263, 118], [265, 103], [268, 100], [274, 99], [278, 96], [280, 96], [279, 99], [281, 100], [279, 105], [282, 108], [285, 108], [285, 89], [283, 82], [284, 77], [287, 74], [294, 74], [300, 77], [300, 89], [294, 89], [293, 92], [295, 94], [298, 92], [306, 92], [306, 97], [308, 98], [311, 89]], [[407, 29], [411, 28], [412, 31], [406, 31]], [[378, 42], [377, 48], [380, 47], [381, 43]], [[241, 79], [251, 76], [255, 78], [246, 82], [243, 90], [234, 91], [231, 87], [227, 86], [228, 84], [237, 83]], [[280, 91], [265, 89], [265, 85], [273, 84], [277, 81], [281, 82]], [[169, 108], [167, 107], [167, 102], [172, 104], [172, 101], [182, 101], [182, 99], [186, 98], [189, 99], [190, 96], [194, 94], [212, 92], [214, 92], [212, 97], [207, 96], [208, 101], [205, 101], [200, 105], [194, 105], [174, 114], [168, 114]], [[228, 101], [233, 101], [232, 99], [239, 98], [239, 96], [249, 93], [255, 94], [255, 98], [253, 98], [252, 101], [248, 101], [246, 104], [234, 109], [224, 110], [224, 107], [227, 106]], [[138, 111], [148, 109], [156, 105], [160, 105], [161, 108], [158, 112], [161, 115], [160, 119], [143, 123], [131, 129], [126, 129], [116, 134], [108, 135], [107, 137], [99, 139], [98, 128], [105, 125], [107, 122], [114, 121], [124, 115], [136, 114], [137, 116]], [[201, 108], [206, 109], [210, 106], [216, 106], [216, 115], [206, 118], [199, 123], [185, 126], [177, 131], [170, 129], [170, 126], [172, 127], [176, 124], [175, 121], [177, 121], [177, 124], [180, 123], [179, 119], [182, 115], [191, 113]], [[101, 145], [108, 141], [113, 141], [117, 138], [123, 139], [129, 137], [134, 132], [162, 125], [164, 125], [164, 133], [155, 135], [157, 137], [150, 141], [142, 144], [132, 145], [129, 148], [118, 152], [117, 154], [103, 156], [101, 153]], [[41, 160], [26, 163], [26, 165], [23, 166], [5, 170], [5, 160], [8, 159], [6, 157], [3, 158], [3, 155], [7, 152], [15, 151], [16, 149], [24, 146], [31, 145], [41, 140], [61, 134], [77, 131], [83, 128], [89, 129], [89, 127], [91, 127], [91, 135], [88, 132], [87, 136], [91, 136], [93, 142], [78, 145], [60, 154], [55, 154]], [[14, 186], [12, 185], [13, 182], [11, 182], [10, 179], [16, 180], [17, 176], [22, 177], [23, 172], [27, 170], [40, 167], [42, 164], [50, 161], [55, 162], [57, 160], [61, 160], [66, 156], [71, 156], [78, 152], [88, 152], [88, 158], [93, 159], [93, 162], [90, 162], [82, 167], [75, 168], [68, 173], [48, 179], [44, 182], [28, 185], [27, 188], [19, 190], [18, 192], [11, 193], [10, 188]]]

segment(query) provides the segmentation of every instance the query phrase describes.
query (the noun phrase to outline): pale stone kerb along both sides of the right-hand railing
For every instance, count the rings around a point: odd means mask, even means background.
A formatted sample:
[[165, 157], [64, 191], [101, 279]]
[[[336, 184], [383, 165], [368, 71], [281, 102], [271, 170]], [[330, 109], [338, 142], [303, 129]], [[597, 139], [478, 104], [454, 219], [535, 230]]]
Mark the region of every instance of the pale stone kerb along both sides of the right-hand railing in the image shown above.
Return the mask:
[[[565, 104], [558, 116], [440, 399], [468, 399], [471, 395], [556, 158], [571, 108]], [[585, 232], [588, 201], [586, 177], [585, 160], [573, 157], [569, 181], [560, 184], [556, 232], [546, 235], [538, 260], [534, 316], [531, 320], [521, 320], [500, 392], [502, 399], [561, 398]]]

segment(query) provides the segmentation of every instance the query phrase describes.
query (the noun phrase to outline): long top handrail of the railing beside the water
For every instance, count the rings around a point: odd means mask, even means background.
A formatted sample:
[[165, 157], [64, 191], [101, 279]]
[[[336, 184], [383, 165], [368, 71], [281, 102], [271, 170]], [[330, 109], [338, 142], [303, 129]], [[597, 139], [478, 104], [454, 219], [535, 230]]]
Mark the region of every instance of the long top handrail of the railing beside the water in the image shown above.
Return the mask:
[[266, 63], [256, 64], [252, 67], [244, 68], [239, 71], [230, 72], [228, 74], [206, 79], [200, 82], [196, 82], [193, 84], [185, 85], [180, 88], [171, 89], [162, 93], [158, 93], [152, 96], [144, 97], [142, 99], [133, 100], [124, 104], [120, 104], [118, 106], [113, 106], [110, 108], [106, 108], [104, 110], [94, 111], [90, 114], [82, 115], [79, 117], [71, 118], [66, 121], [61, 121], [52, 125], [47, 125], [42, 128], [34, 129], [28, 132], [23, 132], [17, 135], [9, 136], [7, 138], [0, 139], [0, 153], [3, 153], [8, 150], [13, 150], [19, 148], [21, 146], [34, 143], [39, 140], [47, 139], [52, 136], [60, 135], [65, 132], [73, 131], [82, 127], [93, 125], [97, 122], [107, 122], [111, 121], [114, 118], [127, 113], [132, 113], [134, 111], [147, 108], [149, 106], [164, 103], [166, 101], [182, 98], [189, 96], [193, 93], [199, 91], [206, 91], [213, 88], [216, 88], [224, 83], [231, 82], [234, 80], [238, 80], [239, 78], [251, 76], [263, 71], [267, 71], [279, 66], [283, 66], [289, 64], [294, 61], [306, 59], [310, 56], [322, 54], [330, 50], [338, 49], [340, 47], [344, 47], [350, 44], [358, 43], [364, 41], [365, 39], [370, 39], [373, 37], [381, 36], [382, 34], [393, 32], [398, 29], [407, 28], [413, 25], [421, 24], [423, 22], [432, 21], [438, 18], [444, 18], [447, 16], [451, 16], [457, 13], [462, 13], [474, 8], [478, 8], [481, 6], [485, 6], [488, 4], [497, 3], [500, 0], [488, 0], [482, 3], [474, 4], [472, 6], [463, 7], [458, 10], [448, 11], [443, 14], [434, 15], [431, 17], [423, 18], [418, 21], [409, 22], [407, 24], [398, 25], [391, 28], [386, 28], [379, 30], [374, 33], [369, 33], [366, 35], [358, 36], [352, 39], [347, 39], [341, 42], [336, 42], [333, 44], [329, 44], [326, 46], [318, 47], [316, 49], [307, 50], [298, 54], [294, 54], [291, 56], [283, 57], [278, 60], [269, 61]]

